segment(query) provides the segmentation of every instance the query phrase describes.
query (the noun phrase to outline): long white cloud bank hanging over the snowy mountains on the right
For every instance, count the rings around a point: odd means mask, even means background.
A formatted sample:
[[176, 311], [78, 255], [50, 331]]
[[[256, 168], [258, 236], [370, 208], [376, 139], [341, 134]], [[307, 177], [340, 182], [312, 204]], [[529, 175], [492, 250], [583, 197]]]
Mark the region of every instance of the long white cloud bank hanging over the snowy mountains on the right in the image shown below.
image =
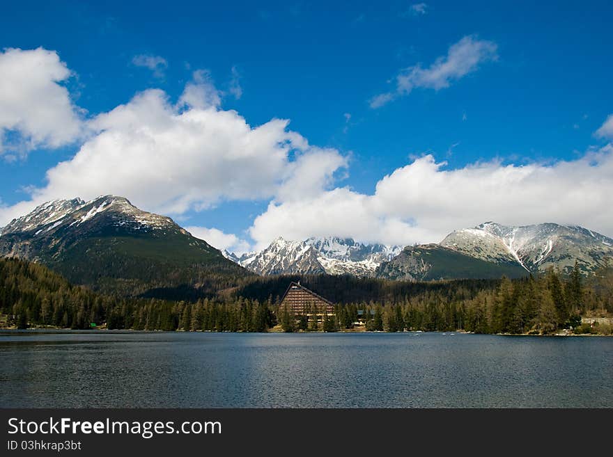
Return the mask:
[[610, 195], [612, 145], [574, 161], [524, 166], [490, 161], [454, 170], [426, 155], [383, 177], [372, 195], [337, 188], [300, 201], [272, 201], [249, 233], [257, 248], [279, 235], [430, 243], [485, 221], [578, 224], [611, 236]]

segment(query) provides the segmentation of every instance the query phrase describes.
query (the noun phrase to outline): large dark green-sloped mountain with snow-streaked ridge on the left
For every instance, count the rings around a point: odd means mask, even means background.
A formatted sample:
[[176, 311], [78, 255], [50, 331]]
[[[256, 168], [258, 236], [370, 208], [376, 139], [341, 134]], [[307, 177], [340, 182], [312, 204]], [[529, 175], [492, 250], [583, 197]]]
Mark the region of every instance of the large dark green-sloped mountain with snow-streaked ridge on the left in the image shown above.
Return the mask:
[[174, 223], [127, 199], [56, 200], [11, 221], [0, 256], [40, 262], [105, 294], [214, 296], [251, 273]]

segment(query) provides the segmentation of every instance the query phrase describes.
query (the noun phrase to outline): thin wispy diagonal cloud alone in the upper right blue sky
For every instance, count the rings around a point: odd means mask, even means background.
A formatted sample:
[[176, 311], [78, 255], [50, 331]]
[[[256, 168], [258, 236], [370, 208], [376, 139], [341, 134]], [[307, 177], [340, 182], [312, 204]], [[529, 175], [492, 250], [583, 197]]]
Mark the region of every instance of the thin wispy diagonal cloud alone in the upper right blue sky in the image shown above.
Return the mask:
[[447, 56], [437, 58], [429, 67], [424, 68], [418, 63], [401, 70], [394, 79], [396, 88], [373, 97], [370, 106], [379, 108], [396, 97], [409, 95], [414, 88], [447, 88], [452, 81], [474, 72], [481, 63], [496, 59], [497, 45], [494, 42], [467, 35], [449, 47]]

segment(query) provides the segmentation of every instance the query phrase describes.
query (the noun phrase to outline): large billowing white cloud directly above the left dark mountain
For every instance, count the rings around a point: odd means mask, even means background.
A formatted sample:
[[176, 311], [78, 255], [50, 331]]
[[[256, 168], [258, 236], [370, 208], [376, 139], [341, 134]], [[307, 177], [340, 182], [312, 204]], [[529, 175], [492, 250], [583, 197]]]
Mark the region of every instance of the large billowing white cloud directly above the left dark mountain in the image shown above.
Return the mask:
[[345, 163], [338, 151], [313, 147], [288, 130], [288, 120], [251, 127], [218, 105], [215, 87], [196, 72], [177, 104], [162, 90], [146, 90], [98, 115], [90, 122], [96, 133], [74, 157], [47, 170], [46, 186], [0, 209], [0, 226], [41, 202], [75, 196], [125, 195], [171, 215], [224, 200], [286, 200], [298, 190], [313, 195], [313, 186], [329, 184]]

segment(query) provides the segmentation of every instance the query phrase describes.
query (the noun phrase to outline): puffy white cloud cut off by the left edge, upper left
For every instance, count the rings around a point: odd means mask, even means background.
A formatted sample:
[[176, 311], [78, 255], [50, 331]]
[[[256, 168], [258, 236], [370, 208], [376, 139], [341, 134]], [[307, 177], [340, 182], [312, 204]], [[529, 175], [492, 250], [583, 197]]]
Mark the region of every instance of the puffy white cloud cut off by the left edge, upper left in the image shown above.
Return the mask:
[[55, 51], [0, 51], [0, 154], [60, 147], [82, 134], [79, 109], [61, 85], [70, 76]]

